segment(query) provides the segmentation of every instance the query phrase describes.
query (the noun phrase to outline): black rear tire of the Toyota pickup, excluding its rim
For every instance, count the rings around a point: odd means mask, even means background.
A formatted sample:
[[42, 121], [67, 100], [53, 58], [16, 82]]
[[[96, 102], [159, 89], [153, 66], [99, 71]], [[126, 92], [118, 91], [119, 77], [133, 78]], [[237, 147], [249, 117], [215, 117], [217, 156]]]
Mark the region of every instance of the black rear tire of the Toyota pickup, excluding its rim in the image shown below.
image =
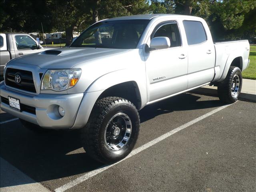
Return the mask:
[[[231, 86], [235, 76], [239, 78], [239, 88], [236, 95], [232, 95]], [[218, 83], [218, 97], [225, 104], [231, 104], [236, 102], [241, 89], [242, 89], [242, 73], [240, 68], [236, 66], [230, 66], [226, 78]]]

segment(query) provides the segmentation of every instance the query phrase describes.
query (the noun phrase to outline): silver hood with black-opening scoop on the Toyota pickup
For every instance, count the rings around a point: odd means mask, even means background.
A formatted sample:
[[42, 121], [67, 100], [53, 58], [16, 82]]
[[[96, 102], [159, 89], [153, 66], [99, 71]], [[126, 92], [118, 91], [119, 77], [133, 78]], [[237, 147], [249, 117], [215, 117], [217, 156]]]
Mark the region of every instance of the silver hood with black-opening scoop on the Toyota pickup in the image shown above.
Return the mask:
[[128, 49], [65, 47], [16, 58], [10, 63], [31, 64], [42, 69], [65, 69], [72, 68], [82, 62], [126, 51]]

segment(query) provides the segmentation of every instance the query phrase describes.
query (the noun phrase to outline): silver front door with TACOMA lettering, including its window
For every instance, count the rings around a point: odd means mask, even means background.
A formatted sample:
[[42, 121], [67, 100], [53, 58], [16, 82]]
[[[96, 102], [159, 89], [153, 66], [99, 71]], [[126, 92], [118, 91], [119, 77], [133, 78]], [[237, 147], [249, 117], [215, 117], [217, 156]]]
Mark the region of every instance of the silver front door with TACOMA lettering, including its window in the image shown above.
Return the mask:
[[[168, 37], [170, 48], [145, 52], [148, 102], [168, 97], [186, 90], [188, 85], [187, 50], [182, 46], [180, 30], [176, 21], [158, 24], [150, 39]], [[148, 42], [149, 43], [149, 42]]]

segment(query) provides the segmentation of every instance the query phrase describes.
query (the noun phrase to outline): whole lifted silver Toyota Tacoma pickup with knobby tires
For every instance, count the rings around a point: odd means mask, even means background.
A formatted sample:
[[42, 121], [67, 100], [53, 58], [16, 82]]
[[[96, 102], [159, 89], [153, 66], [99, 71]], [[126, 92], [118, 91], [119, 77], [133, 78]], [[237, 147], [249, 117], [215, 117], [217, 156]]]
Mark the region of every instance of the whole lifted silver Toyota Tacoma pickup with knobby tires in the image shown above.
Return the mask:
[[69, 47], [8, 62], [1, 109], [34, 130], [81, 128], [86, 153], [115, 162], [134, 147], [146, 105], [207, 84], [236, 102], [248, 56], [248, 40], [214, 43], [202, 18], [106, 19]]

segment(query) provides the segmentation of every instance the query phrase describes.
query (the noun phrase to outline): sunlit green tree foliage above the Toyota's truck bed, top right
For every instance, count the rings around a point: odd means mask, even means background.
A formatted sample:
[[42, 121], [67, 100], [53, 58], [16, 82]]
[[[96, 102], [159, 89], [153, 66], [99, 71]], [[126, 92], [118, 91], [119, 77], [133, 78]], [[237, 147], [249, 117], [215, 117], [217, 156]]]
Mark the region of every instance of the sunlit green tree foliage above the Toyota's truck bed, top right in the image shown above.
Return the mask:
[[255, 36], [255, 9], [256, 2], [250, 0], [214, 1], [209, 19], [214, 39], [243, 39], [248, 31]]

